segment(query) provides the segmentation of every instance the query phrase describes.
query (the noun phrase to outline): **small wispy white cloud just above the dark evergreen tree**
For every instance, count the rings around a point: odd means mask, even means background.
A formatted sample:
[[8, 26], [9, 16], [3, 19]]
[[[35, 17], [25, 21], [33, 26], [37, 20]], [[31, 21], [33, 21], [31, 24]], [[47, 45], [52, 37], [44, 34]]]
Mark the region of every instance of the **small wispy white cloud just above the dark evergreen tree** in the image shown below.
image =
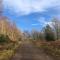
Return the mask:
[[52, 22], [51, 21], [46, 21], [44, 17], [40, 17], [39, 20], [37, 20], [38, 23], [35, 23], [35, 24], [32, 24], [32, 26], [42, 26], [42, 27], [45, 27], [47, 24], [52, 27]]

